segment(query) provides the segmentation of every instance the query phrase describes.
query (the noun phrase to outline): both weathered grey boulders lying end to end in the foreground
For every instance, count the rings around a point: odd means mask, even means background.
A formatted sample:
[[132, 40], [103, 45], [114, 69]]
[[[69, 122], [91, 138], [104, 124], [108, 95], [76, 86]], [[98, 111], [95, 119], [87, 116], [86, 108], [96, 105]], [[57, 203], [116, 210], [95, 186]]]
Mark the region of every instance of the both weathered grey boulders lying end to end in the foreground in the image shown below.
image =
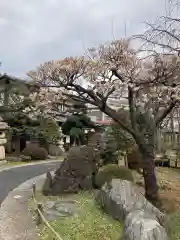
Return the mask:
[[123, 240], [167, 240], [166, 217], [128, 181], [113, 179], [96, 195], [96, 201], [124, 224]]

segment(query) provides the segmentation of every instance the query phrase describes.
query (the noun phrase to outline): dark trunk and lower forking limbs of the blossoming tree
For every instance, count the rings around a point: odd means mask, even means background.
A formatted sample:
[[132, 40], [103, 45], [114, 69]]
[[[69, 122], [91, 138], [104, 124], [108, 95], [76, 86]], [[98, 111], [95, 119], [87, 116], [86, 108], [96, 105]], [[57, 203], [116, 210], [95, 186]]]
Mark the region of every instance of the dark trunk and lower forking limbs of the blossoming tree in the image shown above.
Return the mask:
[[[131, 99], [132, 100], [132, 99]], [[133, 102], [130, 103], [130, 105]], [[131, 107], [134, 107], [131, 105]], [[122, 118], [122, 114], [110, 109], [106, 106], [105, 110], [102, 109], [108, 116], [119, 123], [119, 125], [132, 135], [139, 151], [142, 155], [142, 168], [145, 185], [145, 196], [154, 205], [159, 204], [158, 199], [158, 185], [155, 174], [154, 165], [154, 150], [155, 150], [155, 131], [156, 123], [148, 112], [143, 113], [141, 109], [136, 110], [131, 108], [131, 126], [124, 125], [126, 123], [125, 118]], [[135, 110], [135, 112], [134, 112]], [[135, 114], [135, 116], [134, 116]]]

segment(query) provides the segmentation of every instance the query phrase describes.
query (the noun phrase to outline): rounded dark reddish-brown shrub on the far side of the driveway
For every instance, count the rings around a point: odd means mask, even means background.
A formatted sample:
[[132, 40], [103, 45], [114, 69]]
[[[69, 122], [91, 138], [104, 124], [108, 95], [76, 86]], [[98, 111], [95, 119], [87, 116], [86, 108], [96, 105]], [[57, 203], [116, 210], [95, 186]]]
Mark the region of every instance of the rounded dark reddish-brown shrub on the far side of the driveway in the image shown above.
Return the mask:
[[23, 151], [22, 155], [30, 156], [32, 160], [45, 160], [48, 152], [45, 148], [39, 147], [36, 144], [29, 144]]

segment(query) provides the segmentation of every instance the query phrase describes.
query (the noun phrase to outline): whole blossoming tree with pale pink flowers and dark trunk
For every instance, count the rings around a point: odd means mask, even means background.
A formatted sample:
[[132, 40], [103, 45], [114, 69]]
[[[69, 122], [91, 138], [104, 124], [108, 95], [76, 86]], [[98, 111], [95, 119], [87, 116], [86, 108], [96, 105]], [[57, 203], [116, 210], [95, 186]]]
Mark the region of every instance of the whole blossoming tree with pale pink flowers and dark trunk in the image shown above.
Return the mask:
[[[28, 75], [43, 87], [57, 87], [69, 97], [97, 106], [131, 134], [142, 154], [145, 195], [155, 203], [155, 134], [178, 102], [178, 61], [176, 55], [142, 58], [129, 39], [121, 39], [89, 49], [82, 57], [46, 62]], [[128, 122], [110, 107], [111, 97], [127, 99]]]

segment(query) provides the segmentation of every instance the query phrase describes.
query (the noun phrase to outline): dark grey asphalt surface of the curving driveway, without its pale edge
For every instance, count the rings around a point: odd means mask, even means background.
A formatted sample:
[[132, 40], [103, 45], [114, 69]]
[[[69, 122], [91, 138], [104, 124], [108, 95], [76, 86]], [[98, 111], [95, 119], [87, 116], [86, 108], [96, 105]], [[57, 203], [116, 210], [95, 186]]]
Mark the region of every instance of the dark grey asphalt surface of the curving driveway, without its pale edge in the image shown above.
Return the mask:
[[57, 169], [60, 164], [60, 161], [47, 162], [11, 168], [0, 172], [0, 203], [10, 191], [19, 186], [22, 182], [48, 171], [53, 171]]

